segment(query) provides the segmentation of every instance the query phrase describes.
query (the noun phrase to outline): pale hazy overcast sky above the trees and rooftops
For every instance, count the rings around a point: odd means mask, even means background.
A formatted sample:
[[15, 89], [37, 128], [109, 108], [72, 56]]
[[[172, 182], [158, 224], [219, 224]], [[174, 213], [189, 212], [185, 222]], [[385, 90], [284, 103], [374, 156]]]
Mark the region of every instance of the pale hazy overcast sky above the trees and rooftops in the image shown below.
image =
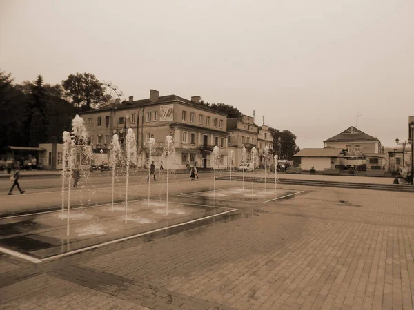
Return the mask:
[[412, 0], [0, 0], [15, 82], [90, 72], [135, 99], [199, 95], [297, 145], [356, 125], [386, 147], [414, 116]]

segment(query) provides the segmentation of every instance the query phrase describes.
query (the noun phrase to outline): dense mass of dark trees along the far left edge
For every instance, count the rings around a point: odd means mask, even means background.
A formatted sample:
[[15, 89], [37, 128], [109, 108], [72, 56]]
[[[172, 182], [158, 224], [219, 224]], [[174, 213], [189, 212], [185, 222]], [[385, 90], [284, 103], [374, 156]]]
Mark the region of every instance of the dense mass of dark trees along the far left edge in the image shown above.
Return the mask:
[[61, 142], [75, 114], [61, 85], [45, 84], [41, 76], [14, 85], [12, 75], [0, 71], [0, 152], [10, 145]]

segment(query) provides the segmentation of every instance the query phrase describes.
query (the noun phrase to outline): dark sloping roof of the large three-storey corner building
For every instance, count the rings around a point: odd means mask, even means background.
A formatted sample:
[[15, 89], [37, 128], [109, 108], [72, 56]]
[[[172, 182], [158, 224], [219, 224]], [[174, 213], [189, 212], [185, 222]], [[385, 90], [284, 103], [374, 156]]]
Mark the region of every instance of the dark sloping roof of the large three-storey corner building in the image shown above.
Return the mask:
[[149, 98], [135, 100], [135, 101], [132, 101], [132, 102], [123, 101], [120, 105], [113, 105], [113, 106], [110, 106], [110, 107], [103, 107], [103, 108], [97, 109], [97, 110], [90, 110], [90, 111], [82, 112], [81, 114], [90, 114], [90, 113], [110, 111], [110, 110], [125, 110], [125, 109], [130, 109], [131, 107], [145, 107], [147, 105], [159, 105], [159, 104], [162, 104], [162, 103], [174, 103], [174, 102], [180, 102], [180, 103], [185, 103], [187, 105], [193, 105], [194, 107], [197, 107], [197, 109], [200, 109], [200, 110], [206, 110], [206, 111], [210, 111], [210, 112], [213, 112], [213, 113], [216, 113], [216, 114], [227, 116], [227, 114], [225, 114], [223, 112], [219, 112], [219, 111], [217, 111], [217, 110], [215, 110], [211, 107], [206, 107], [205, 105], [200, 105], [199, 103], [195, 103], [193, 101], [182, 98], [182, 97], [177, 96], [175, 94], [167, 95], [167, 96], [159, 96], [159, 98], [156, 101], [150, 101]]

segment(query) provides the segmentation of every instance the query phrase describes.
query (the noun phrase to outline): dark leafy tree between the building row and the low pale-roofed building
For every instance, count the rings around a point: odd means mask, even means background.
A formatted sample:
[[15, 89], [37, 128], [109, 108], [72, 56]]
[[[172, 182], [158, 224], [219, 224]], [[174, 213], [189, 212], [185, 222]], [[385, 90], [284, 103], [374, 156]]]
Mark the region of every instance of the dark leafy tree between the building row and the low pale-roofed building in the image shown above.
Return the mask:
[[279, 131], [275, 128], [269, 127], [273, 136], [273, 152], [277, 154], [279, 159], [292, 160], [299, 149], [296, 145], [296, 136], [289, 130]]

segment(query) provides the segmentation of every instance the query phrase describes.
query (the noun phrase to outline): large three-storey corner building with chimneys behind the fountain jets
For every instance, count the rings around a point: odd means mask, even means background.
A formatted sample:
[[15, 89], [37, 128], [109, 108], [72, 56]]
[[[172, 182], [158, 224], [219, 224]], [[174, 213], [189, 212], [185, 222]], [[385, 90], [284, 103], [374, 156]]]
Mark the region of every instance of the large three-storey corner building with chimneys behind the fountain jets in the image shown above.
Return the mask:
[[[174, 138], [175, 157], [172, 169], [183, 169], [186, 164], [213, 167], [213, 147], [220, 149], [219, 167], [227, 167], [227, 116], [210, 107], [200, 105], [201, 97], [191, 100], [176, 95], [159, 96], [150, 90], [150, 98], [124, 101], [114, 107], [88, 111], [82, 114], [91, 136], [95, 152], [108, 150], [113, 134], [123, 141], [128, 128], [137, 138], [138, 165], [148, 161], [148, 141], [155, 138], [152, 159], [156, 165], [162, 158], [166, 136]], [[165, 163], [164, 163], [165, 165]]]

